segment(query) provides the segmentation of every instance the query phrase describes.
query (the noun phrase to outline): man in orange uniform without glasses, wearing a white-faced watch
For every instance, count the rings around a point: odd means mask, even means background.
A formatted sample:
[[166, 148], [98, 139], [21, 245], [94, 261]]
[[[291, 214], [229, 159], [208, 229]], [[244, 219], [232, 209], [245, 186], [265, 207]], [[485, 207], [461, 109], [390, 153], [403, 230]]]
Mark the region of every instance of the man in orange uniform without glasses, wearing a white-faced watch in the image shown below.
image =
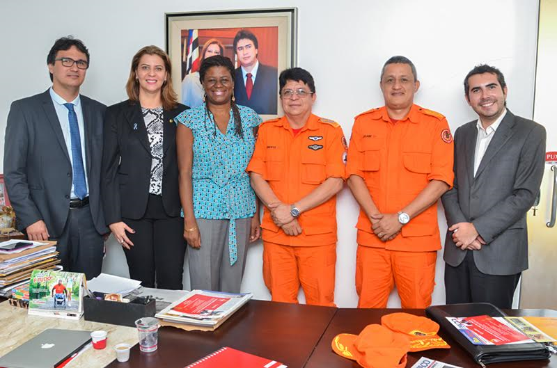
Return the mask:
[[431, 304], [437, 200], [453, 183], [453, 136], [440, 113], [414, 104], [420, 86], [404, 56], [386, 61], [385, 106], [356, 116], [348, 186], [360, 205], [356, 291], [359, 307], [386, 307], [396, 285], [403, 308]]

